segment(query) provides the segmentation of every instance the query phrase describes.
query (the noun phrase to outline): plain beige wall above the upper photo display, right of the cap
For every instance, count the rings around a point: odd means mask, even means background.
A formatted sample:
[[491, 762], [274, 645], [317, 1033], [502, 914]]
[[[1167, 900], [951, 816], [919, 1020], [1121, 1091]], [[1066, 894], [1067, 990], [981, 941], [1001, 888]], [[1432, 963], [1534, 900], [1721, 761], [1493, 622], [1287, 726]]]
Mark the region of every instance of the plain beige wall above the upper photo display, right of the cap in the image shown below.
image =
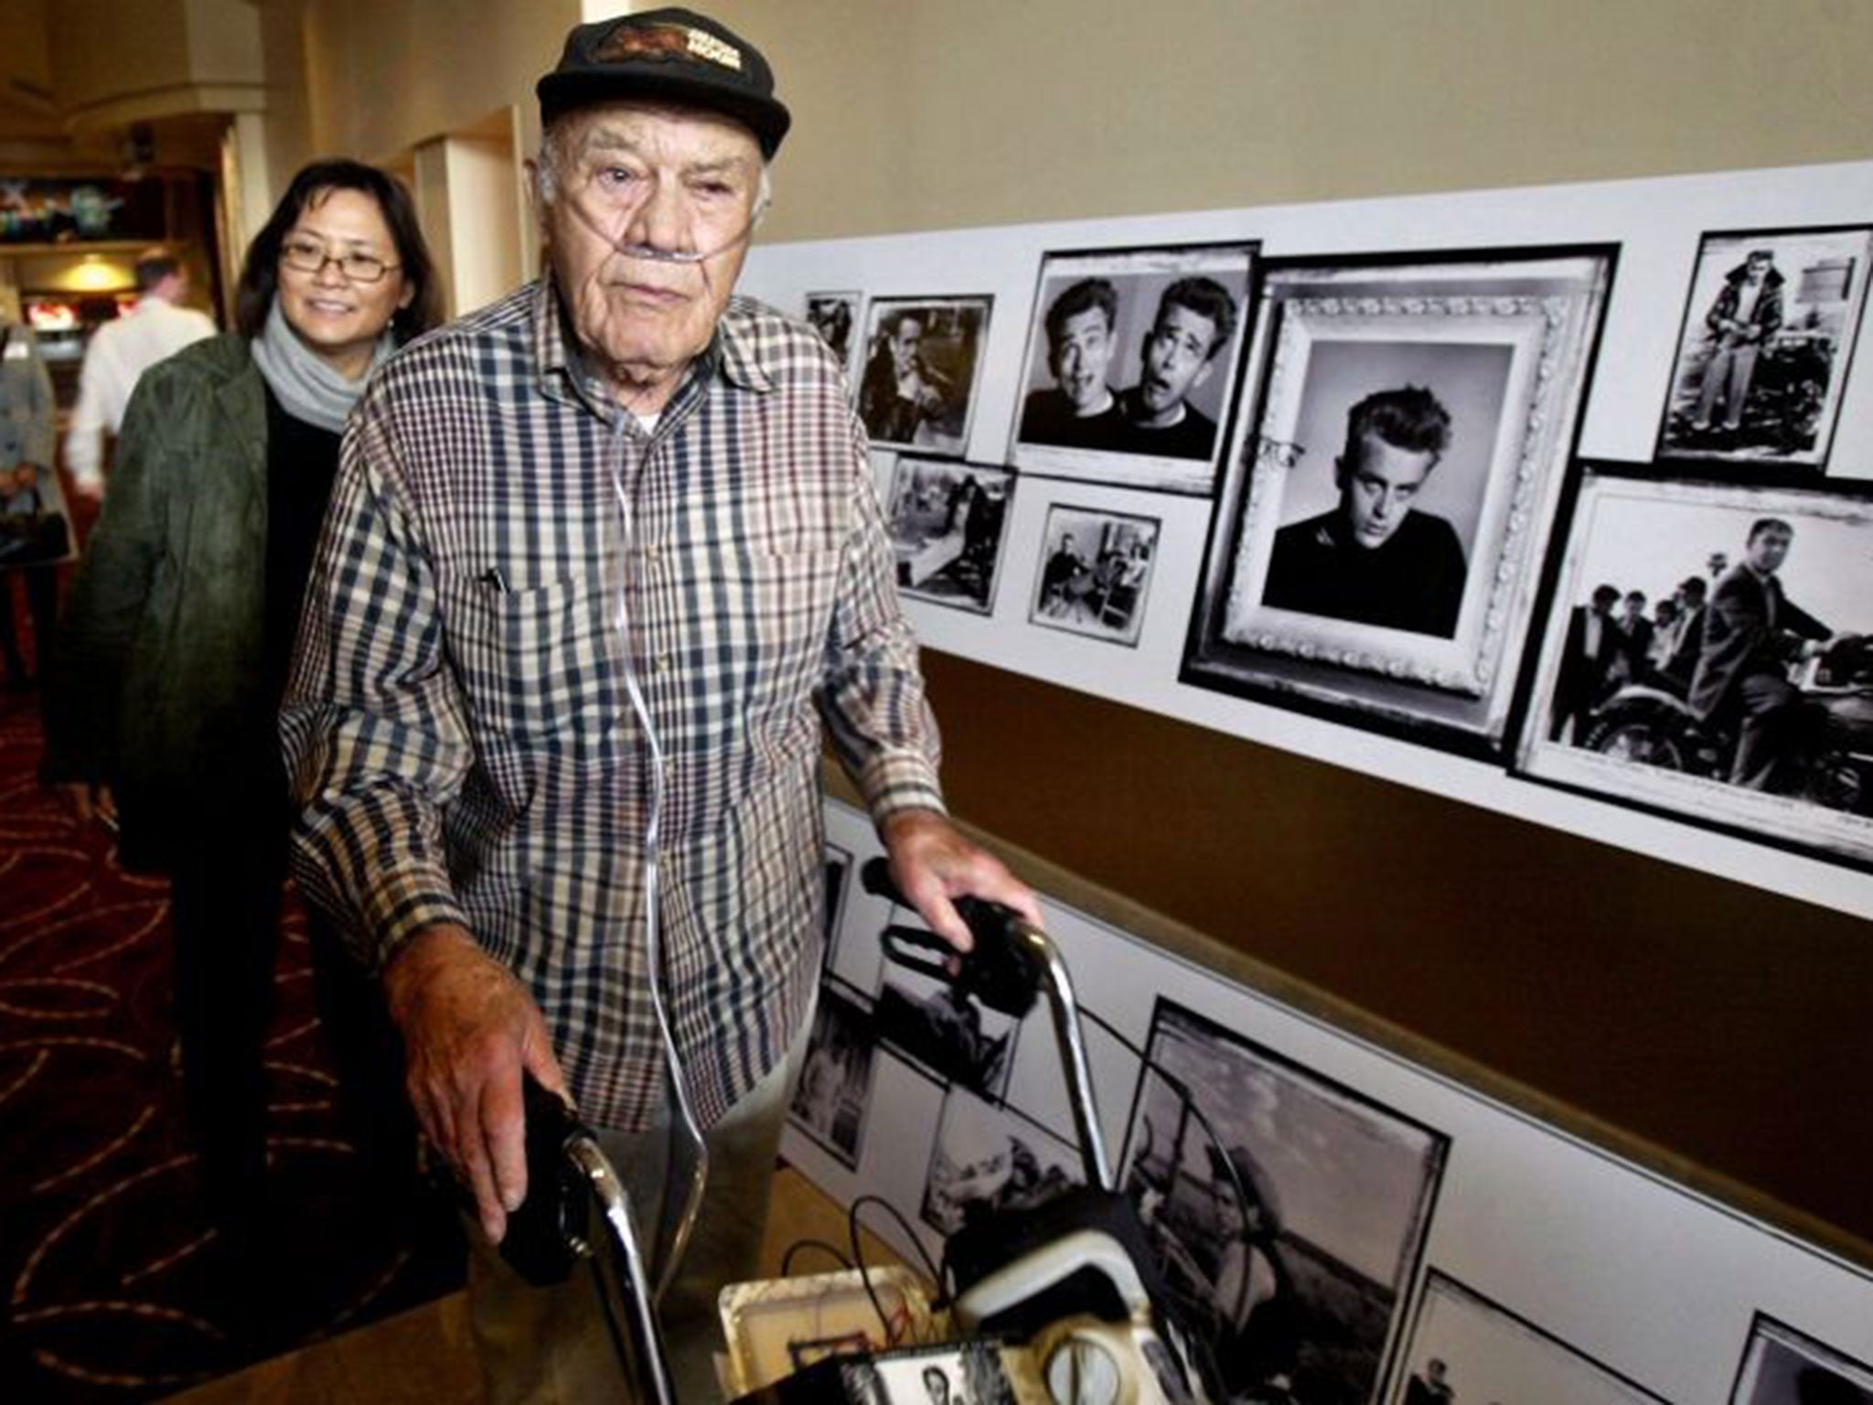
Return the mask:
[[1873, 148], [1864, 0], [719, 0], [712, 13], [768, 52], [796, 114], [770, 240]]

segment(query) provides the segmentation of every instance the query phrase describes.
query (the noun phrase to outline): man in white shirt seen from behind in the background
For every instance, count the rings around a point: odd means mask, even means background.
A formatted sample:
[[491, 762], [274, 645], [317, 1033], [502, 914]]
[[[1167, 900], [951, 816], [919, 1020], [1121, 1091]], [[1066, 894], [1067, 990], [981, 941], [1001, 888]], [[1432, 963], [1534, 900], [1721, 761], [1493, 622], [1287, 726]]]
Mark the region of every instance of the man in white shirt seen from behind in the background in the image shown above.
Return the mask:
[[96, 502], [105, 493], [105, 435], [124, 425], [124, 407], [139, 377], [161, 360], [215, 333], [206, 313], [182, 307], [189, 296], [189, 270], [163, 249], [137, 259], [137, 305], [92, 333], [79, 371], [79, 403], [66, 431], [66, 466], [71, 485]]

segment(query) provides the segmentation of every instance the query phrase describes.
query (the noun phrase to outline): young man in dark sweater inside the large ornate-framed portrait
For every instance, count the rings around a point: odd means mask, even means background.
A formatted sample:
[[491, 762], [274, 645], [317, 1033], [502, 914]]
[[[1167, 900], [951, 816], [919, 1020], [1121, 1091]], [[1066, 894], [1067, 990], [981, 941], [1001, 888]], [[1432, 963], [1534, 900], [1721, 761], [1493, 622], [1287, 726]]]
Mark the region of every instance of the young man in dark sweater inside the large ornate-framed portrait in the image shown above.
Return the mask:
[[1468, 568], [1457, 530], [1412, 506], [1444, 450], [1450, 412], [1429, 390], [1367, 395], [1334, 461], [1339, 506], [1276, 532], [1262, 603], [1450, 639]]

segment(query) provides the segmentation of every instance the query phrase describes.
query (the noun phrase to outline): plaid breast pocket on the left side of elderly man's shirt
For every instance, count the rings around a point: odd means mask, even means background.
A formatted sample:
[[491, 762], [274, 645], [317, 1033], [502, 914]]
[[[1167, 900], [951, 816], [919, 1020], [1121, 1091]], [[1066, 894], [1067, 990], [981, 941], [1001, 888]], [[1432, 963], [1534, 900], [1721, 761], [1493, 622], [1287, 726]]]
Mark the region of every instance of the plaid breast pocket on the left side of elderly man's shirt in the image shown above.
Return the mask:
[[446, 586], [450, 654], [476, 731], [530, 749], [581, 751], [618, 721], [605, 603], [586, 581]]

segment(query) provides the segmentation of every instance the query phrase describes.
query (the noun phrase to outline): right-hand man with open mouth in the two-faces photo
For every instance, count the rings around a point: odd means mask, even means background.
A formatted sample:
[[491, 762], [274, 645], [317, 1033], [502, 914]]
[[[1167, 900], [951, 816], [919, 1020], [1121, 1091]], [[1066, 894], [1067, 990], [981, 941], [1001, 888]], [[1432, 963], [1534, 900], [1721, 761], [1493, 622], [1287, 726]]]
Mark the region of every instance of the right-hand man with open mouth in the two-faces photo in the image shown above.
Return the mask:
[[1158, 298], [1144, 335], [1139, 384], [1120, 397], [1128, 453], [1208, 459], [1216, 420], [1189, 393], [1216, 371], [1216, 356], [1236, 332], [1236, 302], [1214, 277], [1180, 277]]

